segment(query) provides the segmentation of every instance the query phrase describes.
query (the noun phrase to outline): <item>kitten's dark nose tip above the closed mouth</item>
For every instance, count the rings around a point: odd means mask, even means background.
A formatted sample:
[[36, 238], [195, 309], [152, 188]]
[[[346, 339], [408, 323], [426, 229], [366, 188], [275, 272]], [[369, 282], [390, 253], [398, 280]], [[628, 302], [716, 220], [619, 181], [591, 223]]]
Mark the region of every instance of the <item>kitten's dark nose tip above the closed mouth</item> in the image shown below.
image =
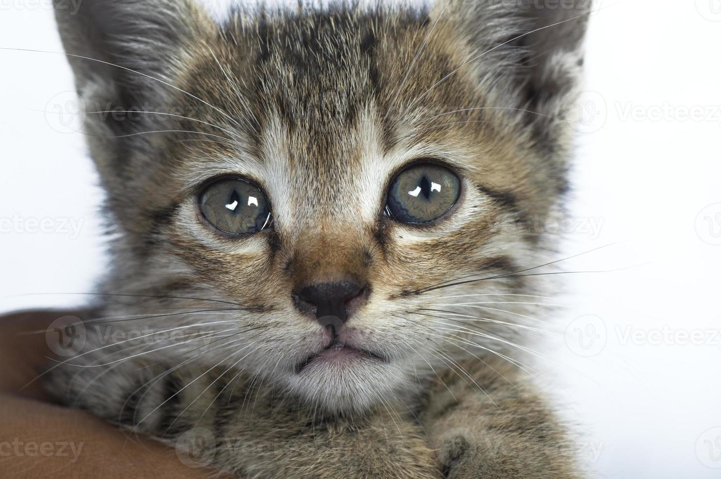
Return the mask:
[[367, 295], [368, 289], [353, 281], [316, 283], [301, 287], [294, 293], [298, 309], [315, 315], [325, 328], [333, 326], [332, 333], [337, 333]]

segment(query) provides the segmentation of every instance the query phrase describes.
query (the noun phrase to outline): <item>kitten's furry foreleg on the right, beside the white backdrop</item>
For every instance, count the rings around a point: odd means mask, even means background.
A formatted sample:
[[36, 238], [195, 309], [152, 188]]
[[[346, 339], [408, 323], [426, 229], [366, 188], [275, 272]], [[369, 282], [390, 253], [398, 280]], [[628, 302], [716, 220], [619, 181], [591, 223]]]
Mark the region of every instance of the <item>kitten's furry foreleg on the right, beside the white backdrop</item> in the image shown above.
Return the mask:
[[476, 383], [446, 372], [421, 415], [448, 478], [581, 477], [564, 427], [516, 367], [494, 360], [462, 365]]

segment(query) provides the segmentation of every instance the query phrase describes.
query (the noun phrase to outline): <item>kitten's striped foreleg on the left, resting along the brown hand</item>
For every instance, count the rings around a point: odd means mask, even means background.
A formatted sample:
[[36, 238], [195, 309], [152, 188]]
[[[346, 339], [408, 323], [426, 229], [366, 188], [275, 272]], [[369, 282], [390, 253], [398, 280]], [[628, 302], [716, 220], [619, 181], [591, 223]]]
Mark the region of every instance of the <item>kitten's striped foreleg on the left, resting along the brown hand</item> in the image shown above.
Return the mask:
[[130, 359], [58, 367], [50, 390], [75, 407], [177, 447], [181, 460], [254, 478], [440, 479], [412, 416], [381, 407], [366, 418], [324, 418], [252, 378], [217, 367]]

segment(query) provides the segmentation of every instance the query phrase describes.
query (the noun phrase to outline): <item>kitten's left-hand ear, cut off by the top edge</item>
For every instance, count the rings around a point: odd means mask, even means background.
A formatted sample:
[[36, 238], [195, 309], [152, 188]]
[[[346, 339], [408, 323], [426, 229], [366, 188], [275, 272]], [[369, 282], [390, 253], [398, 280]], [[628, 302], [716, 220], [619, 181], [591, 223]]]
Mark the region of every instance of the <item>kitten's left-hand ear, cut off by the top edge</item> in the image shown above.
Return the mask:
[[76, 11], [53, 3], [79, 95], [125, 106], [167, 92], [154, 79], [172, 83], [183, 51], [213, 24], [192, 0], [83, 0]]

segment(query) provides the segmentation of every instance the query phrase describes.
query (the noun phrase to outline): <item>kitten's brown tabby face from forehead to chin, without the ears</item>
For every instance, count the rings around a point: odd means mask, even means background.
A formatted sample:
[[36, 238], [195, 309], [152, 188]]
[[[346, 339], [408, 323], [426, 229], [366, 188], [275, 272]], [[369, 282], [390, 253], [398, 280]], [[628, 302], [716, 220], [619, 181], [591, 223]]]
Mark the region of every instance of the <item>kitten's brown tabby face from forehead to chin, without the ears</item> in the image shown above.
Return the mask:
[[519, 114], [534, 105], [526, 87], [497, 55], [476, 58], [453, 14], [236, 20], [196, 21], [177, 89], [153, 85], [163, 104], [151, 105], [188, 119], [89, 125], [134, 128], [135, 143], [92, 143], [124, 236], [129, 280], [112, 287], [242, 306], [216, 326], [237, 351], [205, 360], [334, 411], [516, 342], [518, 309], [484, 298], [529, 286], [468, 280], [536, 266], [537, 222], [518, 220], [552, 214], [564, 122], [541, 131]]

